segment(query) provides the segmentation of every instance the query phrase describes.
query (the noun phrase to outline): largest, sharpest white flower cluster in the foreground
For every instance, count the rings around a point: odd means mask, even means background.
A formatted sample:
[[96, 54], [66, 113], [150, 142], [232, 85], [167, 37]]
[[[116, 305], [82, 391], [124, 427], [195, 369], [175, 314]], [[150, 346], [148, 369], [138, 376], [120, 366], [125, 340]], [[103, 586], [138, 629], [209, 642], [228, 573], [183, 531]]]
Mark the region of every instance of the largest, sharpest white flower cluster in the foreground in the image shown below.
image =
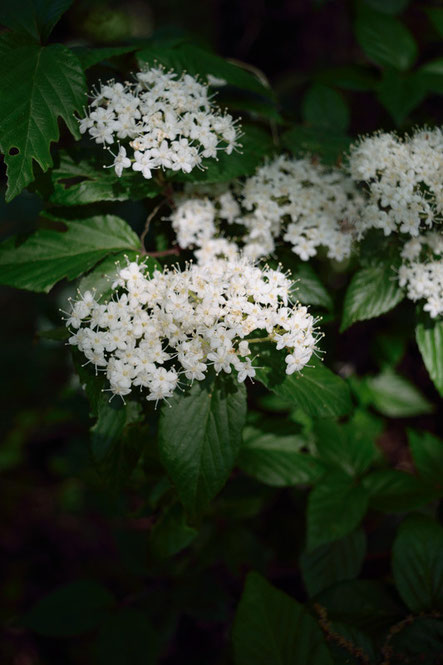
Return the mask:
[[129, 263], [113, 288], [107, 304], [83, 294], [67, 326], [74, 329], [70, 344], [106, 373], [115, 395], [138, 386], [148, 400], [165, 399], [181, 376], [201, 381], [210, 366], [216, 373], [235, 370], [240, 382], [253, 377], [248, 336], [254, 331], [288, 351], [287, 374], [301, 370], [316, 348], [313, 317], [290, 304], [292, 282], [246, 258], [152, 276], [143, 264]]

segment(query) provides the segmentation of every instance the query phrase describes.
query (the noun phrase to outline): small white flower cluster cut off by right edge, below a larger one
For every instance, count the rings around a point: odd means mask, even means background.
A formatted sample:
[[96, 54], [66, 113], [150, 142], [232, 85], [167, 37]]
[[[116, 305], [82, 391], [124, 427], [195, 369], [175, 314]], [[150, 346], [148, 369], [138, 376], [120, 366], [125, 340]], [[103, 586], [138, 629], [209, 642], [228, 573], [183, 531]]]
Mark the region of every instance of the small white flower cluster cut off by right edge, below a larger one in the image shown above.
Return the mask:
[[443, 316], [443, 234], [430, 231], [403, 247], [399, 283], [413, 301], [426, 300], [430, 316]]

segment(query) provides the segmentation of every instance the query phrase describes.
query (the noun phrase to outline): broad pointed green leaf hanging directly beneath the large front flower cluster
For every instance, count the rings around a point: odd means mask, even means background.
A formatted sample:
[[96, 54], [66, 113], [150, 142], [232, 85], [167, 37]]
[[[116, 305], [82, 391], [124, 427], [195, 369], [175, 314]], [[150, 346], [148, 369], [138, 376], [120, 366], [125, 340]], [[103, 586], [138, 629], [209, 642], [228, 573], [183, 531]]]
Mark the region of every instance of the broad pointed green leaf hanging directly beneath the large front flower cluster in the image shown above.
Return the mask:
[[246, 417], [243, 384], [207, 378], [163, 406], [160, 458], [191, 515], [205, 509], [231, 473]]

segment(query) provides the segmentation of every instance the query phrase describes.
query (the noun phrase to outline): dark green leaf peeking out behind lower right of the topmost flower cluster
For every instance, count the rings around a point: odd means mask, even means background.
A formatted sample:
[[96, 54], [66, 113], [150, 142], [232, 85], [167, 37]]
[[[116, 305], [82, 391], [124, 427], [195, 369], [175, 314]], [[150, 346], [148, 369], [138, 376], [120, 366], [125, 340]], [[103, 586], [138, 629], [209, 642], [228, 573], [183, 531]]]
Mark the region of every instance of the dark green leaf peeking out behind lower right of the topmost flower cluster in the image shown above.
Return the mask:
[[241, 147], [227, 155], [221, 151], [217, 159], [203, 159], [204, 170], [193, 169], [191, 173], [167, 171], [166, 177], [175, 182], [201, 182], [211, 184], [226, 182], [241, 176], [252, 175], [264, 157], [273, 150], [271, 137], [260, 127], [242, 126]]

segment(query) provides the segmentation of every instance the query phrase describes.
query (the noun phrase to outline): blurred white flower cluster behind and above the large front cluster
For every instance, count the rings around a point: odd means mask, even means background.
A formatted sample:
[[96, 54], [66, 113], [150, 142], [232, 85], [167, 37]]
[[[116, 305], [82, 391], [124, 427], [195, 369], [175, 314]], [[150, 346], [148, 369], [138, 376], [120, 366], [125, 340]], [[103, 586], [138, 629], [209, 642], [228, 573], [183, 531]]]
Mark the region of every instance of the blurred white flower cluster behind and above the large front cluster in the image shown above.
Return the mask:
[[280, 156], [243, 185], [185, 188], [171, 221], [182, 248], [200, 247], [208, 256], [208, 242], [224, 236], [226, 224], [235, 224], [236, 230], [240, 226], [236, 242], [252, 260], [272, 254], [283, 238], [303, 261], [315, 256], [319, 246], [341, 261], [351, 253], [350, 228], [362, 201], [343, 171]]

